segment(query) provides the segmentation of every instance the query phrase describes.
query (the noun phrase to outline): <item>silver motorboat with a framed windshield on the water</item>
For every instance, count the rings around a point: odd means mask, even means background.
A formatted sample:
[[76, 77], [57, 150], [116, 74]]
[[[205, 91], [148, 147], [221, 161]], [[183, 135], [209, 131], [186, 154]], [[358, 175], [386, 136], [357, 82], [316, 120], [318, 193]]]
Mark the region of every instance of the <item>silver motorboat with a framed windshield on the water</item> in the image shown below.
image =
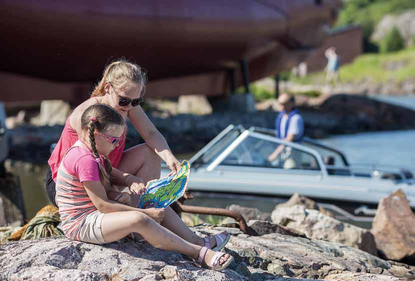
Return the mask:
[[[268, 156], [281, 144], [284, 151], [270, 162]], [[287, 153], [296, 155], [294, 166], [286, 166], [290, 159]], [[275, 137], [272, 129], [229, 125], [189, 162], [189, 191], [206, 198], [212, 198], [212, 194], [216, 198], [226, 197], [227, 205], [247, 196], [251, 201], [272, 198], [284, 201], [298, 192], [333, 212], [338, 219], [370, 222], [379, 200], [401, 188], [410, 206], [415, 208], [415, 185], [410, 170], [390, 165], [351, 164], [334, 147], [307, 137], [301, 143], [286, 142]], [[163, 174], [167, 172], [163, 168]]]

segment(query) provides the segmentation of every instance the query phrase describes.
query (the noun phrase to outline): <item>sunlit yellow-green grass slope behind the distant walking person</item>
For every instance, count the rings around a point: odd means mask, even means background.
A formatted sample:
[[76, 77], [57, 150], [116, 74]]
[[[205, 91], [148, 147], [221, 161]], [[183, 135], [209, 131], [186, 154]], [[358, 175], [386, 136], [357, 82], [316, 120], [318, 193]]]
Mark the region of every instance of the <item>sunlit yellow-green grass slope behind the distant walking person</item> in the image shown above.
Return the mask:
[[[388, 62], [404, 62], [397, 69], [387, 69]], [[368, 53], [357, 57], [352, 63], [343, 65], [339, 70], [342, 82], [359, 82], [370, 79], [374, 82], [386, 82], [390, 79], [400, 82], [415, 75], [415, 47], [394, 53]], [[324, 73], [311, 73], [304, 78], [293, 78], [301, 84], [323, 83]]]

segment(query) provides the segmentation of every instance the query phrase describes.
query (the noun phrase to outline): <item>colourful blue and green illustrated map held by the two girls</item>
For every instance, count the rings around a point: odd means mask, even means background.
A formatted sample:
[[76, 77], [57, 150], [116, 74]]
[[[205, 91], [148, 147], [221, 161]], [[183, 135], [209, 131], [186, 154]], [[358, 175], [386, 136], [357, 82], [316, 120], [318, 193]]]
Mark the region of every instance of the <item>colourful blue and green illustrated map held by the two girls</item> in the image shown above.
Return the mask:
[[165, 208], [186, 191], [190, 164], [183, 160], [177, 173], [147, 182], [147, 191], [141, 196], [138, 208]]

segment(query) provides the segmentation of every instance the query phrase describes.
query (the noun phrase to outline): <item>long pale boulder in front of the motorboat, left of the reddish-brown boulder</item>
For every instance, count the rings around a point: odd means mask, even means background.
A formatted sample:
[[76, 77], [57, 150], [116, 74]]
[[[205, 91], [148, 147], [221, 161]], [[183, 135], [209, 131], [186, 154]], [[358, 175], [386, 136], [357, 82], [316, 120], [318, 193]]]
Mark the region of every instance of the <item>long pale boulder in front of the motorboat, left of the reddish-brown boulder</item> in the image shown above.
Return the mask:
[[280, 207], [271, 215], [272, 222], [305, 233], [312, 239], [324, 239], [377, 254], [373, 235], [369, 230], [342, 222], [304, 205]]

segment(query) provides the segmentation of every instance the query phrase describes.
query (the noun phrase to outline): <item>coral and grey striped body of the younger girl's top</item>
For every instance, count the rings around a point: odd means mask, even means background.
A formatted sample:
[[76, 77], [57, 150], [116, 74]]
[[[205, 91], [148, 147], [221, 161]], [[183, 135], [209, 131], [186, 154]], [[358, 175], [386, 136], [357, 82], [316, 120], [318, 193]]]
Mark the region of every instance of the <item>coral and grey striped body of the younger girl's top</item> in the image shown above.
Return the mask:
[[[80, 140], [76, 141], [71, 148], [76, 146], [85, 147]], [[88, 149], [87, 147], [85, 148]], [[56, 177], [55, 198], [61, 215], [62, 230], [64, 230], [65, 235], [71, 239], [81, 240], [80, 230], [88, 214], [97, 210], [97, 208], [91, 201], [84, 184], [77, 176], [67, 171], [63, 161], [59, 165]]]

